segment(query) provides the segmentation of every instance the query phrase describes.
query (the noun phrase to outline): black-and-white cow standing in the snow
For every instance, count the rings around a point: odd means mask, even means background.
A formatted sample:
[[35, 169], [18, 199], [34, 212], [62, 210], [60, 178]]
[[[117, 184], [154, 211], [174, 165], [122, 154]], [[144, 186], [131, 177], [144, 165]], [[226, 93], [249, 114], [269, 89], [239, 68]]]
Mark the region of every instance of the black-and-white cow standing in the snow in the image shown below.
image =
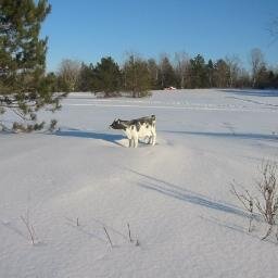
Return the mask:
[[115, 119], [111, 125], [113, 129], [121, 129], [128, 138], [128, 147], [138, 147], [139, 139], [147, 140], [154, 146], [156, 141], [155, 115], [130, 121]]

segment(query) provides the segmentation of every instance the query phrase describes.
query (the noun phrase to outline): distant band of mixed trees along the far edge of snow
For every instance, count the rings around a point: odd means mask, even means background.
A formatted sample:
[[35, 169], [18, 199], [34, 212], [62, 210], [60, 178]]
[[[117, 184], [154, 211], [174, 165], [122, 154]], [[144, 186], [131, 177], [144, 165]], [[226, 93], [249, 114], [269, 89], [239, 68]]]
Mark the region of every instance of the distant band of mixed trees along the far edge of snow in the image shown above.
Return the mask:
[[189, 58], [185, 52], [167, 54], [160, 60], [144, 60], [129, 54], [122, 65], [113, 58], [102, 58], [97, 64], [63, 60], [56, 73], [49, 73], [54, 91], [103, 92], [115, 97], [121, 92], [142, 97], [150, 90], [169, 87], [194, 88], [254, 88], [277, 89], [278, 68], [266, 64], [260, 49], [250, 52], [250, 67], [241, 66], [238, 56], [205, 61], [201, 54]]

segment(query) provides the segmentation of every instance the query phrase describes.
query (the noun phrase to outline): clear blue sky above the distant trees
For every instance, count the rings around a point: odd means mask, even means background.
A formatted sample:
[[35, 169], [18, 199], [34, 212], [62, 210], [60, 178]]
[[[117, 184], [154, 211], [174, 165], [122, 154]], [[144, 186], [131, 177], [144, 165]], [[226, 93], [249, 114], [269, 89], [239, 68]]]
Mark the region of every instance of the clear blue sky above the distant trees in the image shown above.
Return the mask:
[[62, 59], [96, 63], [127, 51], [157, 59], [186, 51], [207, 59], [238, 54], [248, 67], [252, 48], [278, 65], [278, 41], [267, 30], [278, 0], [49, 0], [51, 14], [41, 35], [49, 37], [47, 67]]

